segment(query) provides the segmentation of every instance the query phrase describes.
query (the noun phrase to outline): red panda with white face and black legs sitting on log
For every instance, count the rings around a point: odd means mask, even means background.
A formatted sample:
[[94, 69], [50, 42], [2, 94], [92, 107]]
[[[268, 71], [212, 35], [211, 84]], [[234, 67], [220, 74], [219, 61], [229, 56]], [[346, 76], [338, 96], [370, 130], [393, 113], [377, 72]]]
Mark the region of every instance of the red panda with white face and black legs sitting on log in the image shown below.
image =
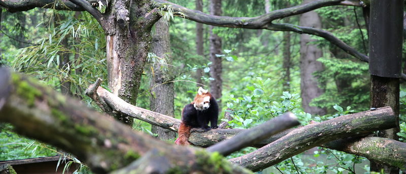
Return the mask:
[[[205, 132], [212, 128], [218, 128], [218, 116], [219, 106], [216, 99], [207, 90], [200, 87], [193, 102], [186, 105], [182, 110], [182, 122], [178, 130], [179, 138], [175, 144], [189, 145], [187, 140], [192, 128], [200, 127]], [[211, 127], [208, 125], [209, 121]]]

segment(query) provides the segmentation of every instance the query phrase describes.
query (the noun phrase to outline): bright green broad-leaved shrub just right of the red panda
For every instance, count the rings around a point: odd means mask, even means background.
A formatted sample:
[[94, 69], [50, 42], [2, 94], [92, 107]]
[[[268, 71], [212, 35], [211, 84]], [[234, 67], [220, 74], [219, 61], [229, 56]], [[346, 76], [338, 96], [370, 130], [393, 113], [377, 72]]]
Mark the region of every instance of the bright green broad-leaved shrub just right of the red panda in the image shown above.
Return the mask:
[[233, 117], [233, 120], [228, 121], [231, 127], [253, 127], [285, 112], [293, 112], [304, 116], [301, 118], [306, 118], [305, 115], [308, 114], [301, 112], [301, 99], [298, 94], [283, 92], [282, 96], [275, 100], [275, 93], [273, 93], [272, 89], [266, 88], [271, 80], [269, 78], [262, 79], [261, 77], [256, 79], [257, 83], [247, 87], [251, 91], [250, 95], [236, 98], [233, 95], [230, 96], [227, 107], [231, 109], [229, 112]]

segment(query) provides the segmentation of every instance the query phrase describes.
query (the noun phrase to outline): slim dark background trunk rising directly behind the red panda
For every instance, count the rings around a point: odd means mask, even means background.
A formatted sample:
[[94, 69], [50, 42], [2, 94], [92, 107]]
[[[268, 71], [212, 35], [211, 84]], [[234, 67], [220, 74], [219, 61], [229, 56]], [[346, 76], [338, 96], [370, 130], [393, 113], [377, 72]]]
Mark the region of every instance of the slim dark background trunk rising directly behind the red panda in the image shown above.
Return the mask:
[[[211, 0], [210, 1], [210, 14], [215, 16], [221, 16], [221, 0]], [[210, 93], [214, 98], [217, 99], [218, 104], [221, 105], [221, 90], [223, 85], [222, 74], [222, 63], [221, 57], [217, 57], [216, 54], [221, 54], [221, 38], [213, 33], [214, 26], [210, 26], [210, 61], [212, 65], [210, 67], [210, 77], [214, 80], [210, 81]]]

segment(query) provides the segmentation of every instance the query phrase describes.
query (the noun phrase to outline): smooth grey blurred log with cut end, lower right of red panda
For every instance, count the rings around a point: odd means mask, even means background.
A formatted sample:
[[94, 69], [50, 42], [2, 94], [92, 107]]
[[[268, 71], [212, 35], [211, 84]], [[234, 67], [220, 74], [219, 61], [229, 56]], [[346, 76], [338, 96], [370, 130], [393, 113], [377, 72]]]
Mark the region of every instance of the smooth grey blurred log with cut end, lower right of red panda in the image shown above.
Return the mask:
[[297, 121], [297, 117], [288, 112], [254, 128], [245, 130], [229, 140], [210, 146], [207, 151], [219, 152], [226, 156], [298, 124], [300, 123]]

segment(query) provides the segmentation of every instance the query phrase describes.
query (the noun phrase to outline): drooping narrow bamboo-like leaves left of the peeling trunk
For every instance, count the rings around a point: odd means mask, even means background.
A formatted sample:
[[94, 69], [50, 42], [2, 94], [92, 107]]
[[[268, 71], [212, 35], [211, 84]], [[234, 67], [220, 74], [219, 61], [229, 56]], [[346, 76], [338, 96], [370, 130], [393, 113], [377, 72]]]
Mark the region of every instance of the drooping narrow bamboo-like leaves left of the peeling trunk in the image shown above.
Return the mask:
[[[17, 50], [15, 55], [5, 56], [5, 61], [56, 90], [61, 88], [60, 81], [69, 81], [73, 95], [87, 98], [83, 89], [97, 77], [107, 79], [106, 43], [99, 39], [104, 37], [103, 32], [87, 14], [78, 19], [67, 12], [47, 15], [66, 19], [55, 22], [55, 26], [49, 23], [49, 31], [35, 41], [38, 45]], [[67, 60], [62, 55], [67, 55]]]

